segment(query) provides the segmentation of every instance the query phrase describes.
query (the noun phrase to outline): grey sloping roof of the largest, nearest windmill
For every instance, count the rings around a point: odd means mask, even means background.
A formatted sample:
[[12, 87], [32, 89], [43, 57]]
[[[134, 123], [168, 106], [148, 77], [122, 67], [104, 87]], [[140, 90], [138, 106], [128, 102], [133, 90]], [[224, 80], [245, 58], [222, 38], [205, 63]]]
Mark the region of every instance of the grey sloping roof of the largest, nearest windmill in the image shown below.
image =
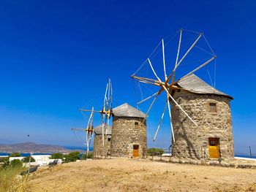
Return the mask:
[[195, 74], [189, 74], [187, 77], [181, 78], [181, 80], [178, 80], [177, 84], [181, 86], [181, 88], [184, 88], [192, 93], [214, 94], [219, 96], [227, 96], [229, 99], [233, 99], [233, 97], [228, 96], [226, 93], [223, 93], [216, 88], [213, 88], [211, 85], [208, 85], [207, 82], [201, 80]]

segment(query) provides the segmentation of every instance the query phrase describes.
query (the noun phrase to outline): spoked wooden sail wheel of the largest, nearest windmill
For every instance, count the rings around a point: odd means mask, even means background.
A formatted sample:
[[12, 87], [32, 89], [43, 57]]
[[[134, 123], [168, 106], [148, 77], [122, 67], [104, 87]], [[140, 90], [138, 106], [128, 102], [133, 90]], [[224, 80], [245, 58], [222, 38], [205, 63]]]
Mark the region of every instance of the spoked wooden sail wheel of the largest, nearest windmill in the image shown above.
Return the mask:
[[[171, 112], [170, 112], [171, 104], [176, 104], [176, 106], [184, 113], [184, 115], [186, 115], [187, 118], [189, 118], [189, 120], [191, 120], [192, 123], [194, 123], [195, 126], [197, 126], [197, 123], [195, 122], [195, 120], [193, 120], [188, 115], [188, 113], [178, 104], [178, 102], [175, 99], [173, 99], [173, 94], [175, 93], [175, 91], [183, 89], [183, 88], [178, 87], [176, 85], [176, 82], [178, 82], [178, 80], [183, 80], [186, 77], [188, 77], [189, 75], [197, 72], [199, 69], [203, 68], [203, 66], [206, 66], [211, 61], [214, 61], [215, 58], [217, 58], [217, 56], [214, 54], [213, 50], [211, 49], [210, 45], [208, 44], [208, 42], [206, 40], [206, 37], [204, 37], [203, 33], [197, 33], [197, 32], [195, 32], [195, 34], [197, 36], [195, 38], [195, 41], [193, 40], [192, 44], [190, 44], [189, 47], [186, 50], [184, 50], [184, 55], [182, 55], [181, 58], [180, 58], [181, 48], [182, 48], [182, 45], [183, 45], [182, 44], [182, 36], [183, 36], [184, 31], [189, 32], [189, 31], [184, 30], [184, 29], [180, 29], [179, 31], [176, 31], [175, 36], [176, 35], [179, 36], [178, 37], [178, 47], [176, 47], [176, 53], [173, 54], [173, 55], [176, 55], [176, 57], [174, 57], [175, 61], [173, 61], [173, 70], [170, 72], [169, 75], [167, 75], [167, 72], [166, 72], [167, 70], [166, 70], [166, 66], [165, 66], [165, 55], [166, 55], [165, 54], [165, 42], [164, 42], [164, 39], [162, 39], [162, 41], [159, 42], [159, 45], [157, 45], [157, 47], [162, 45], [161, 46], [162, 47], [161, 56], [162, 56], [162, 65], [163, 65], [164, 77], [160, 78], [159, 75], [157, 75], [157, 72], [155, 71], [154, 66], [151, 63], [151, 59], [150, 59], [151, 55], [147, 58], [146, 62], [144, 62], [143, 65], [140, 66], [140, 68], [134, 74], [132, 74], [132, 76], [131, 76], [133, 79], [138, 80], [138, 82], [142, 82], [142, 83], [148, 84], [148, 85], [154, 85], [154, 86], [157, 86], [157, 88], [159, 88], [159, 89], [157, 89], [158, 91], [156, 93], [154, 93], [151, 96], [146, 97], [146, 99], [143, 99], [142, 101], [138, 102], [138, 104], [142, 104], [143, 102], [147, 101], [148, 99], [153, 99], [153, 101], [151, 101], [151, 104], [149, 105], [148, 110], [146, 112], [146, 117], [148, 116], [148, 112], [153, 107], [155, 101], [157, 101], [157, 98], [159, 98], [159, 95], [162, 94], [162, 93], [164, 95], [166, 95], [165, 107], [163, 109], [162, 116], [161, 116], [161, 119], [159, 121], [159, 125], [157, 126], [157, 131], [154, 134], [154, 139], [153, 139], [154, 141], [157, 137], [157, 134], [159, 132], [159, 128], [162, 124], [162, 120], [164, 118], [166, 108], [168, 108], [168, 113], [169, 113], [169, 118], [170, 118], [170, 128], [171, 128], [171, 132], [172, 132], [172, 139], [173, 139], [173, 142], [175, 142], [175, 138], [174, 138], [174, 134], [173, 134], [172, 116], [171, 116]], [[194, 31], [193, 31], [193, 33], [194, 33]], [[201, 47], [197, 47], [197, 43], [200, 41], [200, 39], [203, 39], [203, 41], [206, 43], [208, 48], [210, 48], [209, 52], [206, 51], [206, 50], [203, 50], [203, 48], [201, 48]], [[168, 43], [170, 43], [170, 41]], [[181, 77], [181, 79], [176, 80], [176, 71], [177, 71], [178, 67], [181, 65], [182, 62], [184, 62], [185, 58], [187, 58], [189, 53], [192, 52], [192, 50], [195, 49], [195, 47], [197, 47], [200, 50], [205, 51], [206, 53], [209, 53], [211, 55], [211, 58], [207, 58], [206, 61], [203, 61], [203, 64], [200, 64], [196, 68], [192, 69], [190, 72], [187, 72], [187, 74], [185, 74], [183, 77]], [[153, 78], [140, 77], [140, 76], [137, 75], [137, 73], [141, 69], [143, 69], [143, 66], [145, 64], [148, 64], [150, 66], [150, 70], [154, 74]]]

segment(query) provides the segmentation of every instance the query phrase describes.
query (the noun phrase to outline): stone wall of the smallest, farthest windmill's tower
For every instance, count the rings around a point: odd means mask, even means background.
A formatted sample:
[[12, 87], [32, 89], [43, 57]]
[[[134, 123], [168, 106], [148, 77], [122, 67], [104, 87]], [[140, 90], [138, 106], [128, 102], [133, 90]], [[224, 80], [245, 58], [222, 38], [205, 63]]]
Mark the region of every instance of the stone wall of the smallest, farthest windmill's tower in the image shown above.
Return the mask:
[[102, 147], [102, 135], [94, 136], [94, 158], [107, 157], [110, 155], [111, 135], [104, 136], [104, 147]]

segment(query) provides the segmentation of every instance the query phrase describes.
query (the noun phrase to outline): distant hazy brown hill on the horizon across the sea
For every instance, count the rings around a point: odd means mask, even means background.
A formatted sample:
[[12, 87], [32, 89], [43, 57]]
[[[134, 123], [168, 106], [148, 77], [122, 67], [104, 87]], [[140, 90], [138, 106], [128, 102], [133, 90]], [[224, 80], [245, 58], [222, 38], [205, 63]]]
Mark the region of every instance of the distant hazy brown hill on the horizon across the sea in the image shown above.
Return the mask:
[[[23, 142], [13, 145], [1, 145], [1, 153], [69, 153], [74, 150], [67, 149], [65, 147], [56, 146], [56, 145], [38, 145], [34, 142]], [[78, 150], [84, 152], [83, 150]]]

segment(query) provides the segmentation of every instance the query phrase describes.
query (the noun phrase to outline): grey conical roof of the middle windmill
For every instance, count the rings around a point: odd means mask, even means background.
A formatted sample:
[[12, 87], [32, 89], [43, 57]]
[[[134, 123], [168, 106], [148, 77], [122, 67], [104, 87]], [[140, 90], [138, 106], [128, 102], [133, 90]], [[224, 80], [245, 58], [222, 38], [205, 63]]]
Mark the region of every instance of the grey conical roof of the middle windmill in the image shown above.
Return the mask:
[[127, 117], [127, 118], [145, 118], [146, 114], [129, 104], [121, 104], [120, 106], [113, 109], [113, 115], [116, 117]]

